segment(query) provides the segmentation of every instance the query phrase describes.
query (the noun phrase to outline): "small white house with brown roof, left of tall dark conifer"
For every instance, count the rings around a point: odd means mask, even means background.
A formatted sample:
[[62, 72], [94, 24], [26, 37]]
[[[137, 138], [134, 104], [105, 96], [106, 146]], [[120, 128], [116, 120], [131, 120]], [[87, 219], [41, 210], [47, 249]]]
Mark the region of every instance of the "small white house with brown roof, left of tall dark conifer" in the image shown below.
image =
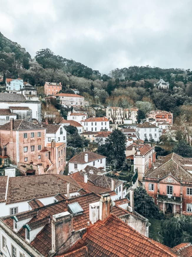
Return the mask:
[[91, 151], [81, 152], [69, 161], [69, 174], [83, 170], [87, 165], [106, 170], [106, 157]]

